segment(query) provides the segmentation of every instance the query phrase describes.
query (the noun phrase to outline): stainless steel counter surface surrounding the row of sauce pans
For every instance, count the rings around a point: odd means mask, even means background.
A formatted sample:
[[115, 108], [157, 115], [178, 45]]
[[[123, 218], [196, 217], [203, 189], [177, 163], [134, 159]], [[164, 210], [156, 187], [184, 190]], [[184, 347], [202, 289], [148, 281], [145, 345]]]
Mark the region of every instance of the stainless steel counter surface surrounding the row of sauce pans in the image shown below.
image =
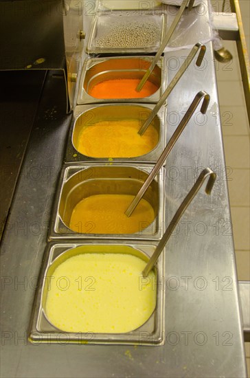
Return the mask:
[[[168, 80], [189, 50], [166, 54]], [[168, 99], [168, 139], [195, 94], [211, 96], [166, 163], [166, 224], [202, 168], [218, 178], [200, 192], [166, 247], [163, 346], [32, 345], [27, 341], [36, 282], [71, 120], [62, 82], [51, 72], [1, 246], [2, 377], [247, 377], [212, 45], [205, 65], [190, 65]], [[62, 96], [63, 97], [63, 96]]]

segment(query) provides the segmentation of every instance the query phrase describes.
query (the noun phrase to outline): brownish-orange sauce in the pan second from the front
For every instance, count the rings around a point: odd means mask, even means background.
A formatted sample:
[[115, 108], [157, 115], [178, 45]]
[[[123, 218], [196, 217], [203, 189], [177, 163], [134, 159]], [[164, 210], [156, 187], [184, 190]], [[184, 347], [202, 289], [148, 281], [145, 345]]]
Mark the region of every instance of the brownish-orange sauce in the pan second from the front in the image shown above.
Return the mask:
[[155, 212], [145, 199], [139, 201], [131, 216], [124, 212], [135, 196], [96, 194], [80, 201], [73, 209], [69, 228], [86, 234], [134, 234], [148, 227]]

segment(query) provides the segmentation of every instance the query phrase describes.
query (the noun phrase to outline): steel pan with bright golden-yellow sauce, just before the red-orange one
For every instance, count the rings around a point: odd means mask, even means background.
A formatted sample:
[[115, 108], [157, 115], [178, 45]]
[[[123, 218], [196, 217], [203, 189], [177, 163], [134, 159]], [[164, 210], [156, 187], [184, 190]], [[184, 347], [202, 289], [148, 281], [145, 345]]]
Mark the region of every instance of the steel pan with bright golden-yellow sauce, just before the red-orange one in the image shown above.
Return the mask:
[[[152, 109], [151, 104], [102, 104], [76, 107], [69, 131], [65, 162], [72, 164], [110, 161], [157, 162], [166, 146], [166, 107], [161, 107], [145, 135], [137, 134], [137, 129], [139, 131]], [[91, 135], [86, 137], [86, 133], [91, 133], [91, 128], [93, 133], [94, 126], [100, 127], [103, 131], [95, 135], [95, 138]], [[123, 132], [121, 132], [122, 128]], [[123, 153], [120, 150], [121, 145]], [[146, 153], [141, 155], [141, 152], [145, 151]], [[114, 157], [115, 155], [117, 156]], [[124, 157], [126, 155], [129, 157]]]

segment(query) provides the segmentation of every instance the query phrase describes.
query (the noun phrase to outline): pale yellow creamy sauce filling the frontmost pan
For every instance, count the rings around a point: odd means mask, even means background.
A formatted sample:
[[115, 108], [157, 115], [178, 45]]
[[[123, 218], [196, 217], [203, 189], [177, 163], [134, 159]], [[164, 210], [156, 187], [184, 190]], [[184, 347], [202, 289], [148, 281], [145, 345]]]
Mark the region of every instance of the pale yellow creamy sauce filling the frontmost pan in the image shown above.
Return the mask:
[[[66, 332], [126, 333], [155, 309], [155, 273], [130, 254], [79, 254], [60, 264], [50, 280], [45, 313]], [[141, 280], [141, 281], [140, 281]], [[143, 285], [142, 285], [143, 282]]]

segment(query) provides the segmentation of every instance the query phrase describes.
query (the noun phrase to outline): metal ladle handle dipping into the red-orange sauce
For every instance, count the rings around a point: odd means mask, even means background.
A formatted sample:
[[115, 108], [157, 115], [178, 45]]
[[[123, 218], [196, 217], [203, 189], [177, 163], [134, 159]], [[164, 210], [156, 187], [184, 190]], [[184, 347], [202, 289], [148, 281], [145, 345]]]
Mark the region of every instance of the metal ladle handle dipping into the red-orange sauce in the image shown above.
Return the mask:
[[[190, 1], [189, 5], [188, 5], [188, 1]], [[168, 44], [168, 41], [170, 40], [175, 28], [177, 27], [177, 24], [179, 23], [181, 16], [182, 16], [182, 14], [185, 10], [185, 7], [187, 5], [188, 5], [188, 9], [190, 10], [192, 8], [192, 6], [194, 5], [194, 0], [183, 0], [183, 2], [181, 3], [181, 7], [179, 9], [179, 12], [175, 16], [174, 21], [172, 22], [172, 25], [168, 29], [166, 36], [163, 38], [161, 46], [159, 47], [159, 50], [158, 50], [157, 54], [155, 55], [154, 60], [152, 61], [150, 67], [147, 69], [144, 77], [141, 79], [141, 81], [137, 85], [137, 88], [136, 88], [137, 92], [141, 91], [141, 89], [144, 87], [146, 81], [148, 80], [150, 74], [152, 74], [152, 70], [155, 68], [155, 65], [157, 64], [159, 58], [161, 58], [161, 54], [163, 53], [166, 45]]]

